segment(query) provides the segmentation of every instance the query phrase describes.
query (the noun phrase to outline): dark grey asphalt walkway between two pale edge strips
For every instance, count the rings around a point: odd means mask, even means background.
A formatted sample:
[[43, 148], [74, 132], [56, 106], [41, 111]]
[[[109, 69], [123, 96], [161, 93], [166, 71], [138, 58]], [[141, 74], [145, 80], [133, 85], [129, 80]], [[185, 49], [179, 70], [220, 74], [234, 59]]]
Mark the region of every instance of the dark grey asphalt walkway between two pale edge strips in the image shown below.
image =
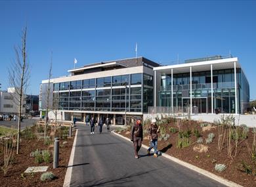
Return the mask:
[[77, 125], [77, 142], [70, 186], [222, 186], [164, 157], [146, 156], [142, 148], [135, 159], [133, 146], [98, 128]]

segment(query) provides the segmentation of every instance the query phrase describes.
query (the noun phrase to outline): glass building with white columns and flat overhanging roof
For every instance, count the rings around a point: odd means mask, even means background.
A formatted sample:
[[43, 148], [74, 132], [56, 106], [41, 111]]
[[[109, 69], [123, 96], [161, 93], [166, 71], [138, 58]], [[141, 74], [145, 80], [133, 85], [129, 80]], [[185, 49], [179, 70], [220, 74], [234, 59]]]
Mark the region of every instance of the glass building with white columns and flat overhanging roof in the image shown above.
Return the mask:
[[154, 106], [180, 107], [213, 114], [242, 114], [249, 103], [249, 84], [238, 58], [212, 56], [154, 68]]

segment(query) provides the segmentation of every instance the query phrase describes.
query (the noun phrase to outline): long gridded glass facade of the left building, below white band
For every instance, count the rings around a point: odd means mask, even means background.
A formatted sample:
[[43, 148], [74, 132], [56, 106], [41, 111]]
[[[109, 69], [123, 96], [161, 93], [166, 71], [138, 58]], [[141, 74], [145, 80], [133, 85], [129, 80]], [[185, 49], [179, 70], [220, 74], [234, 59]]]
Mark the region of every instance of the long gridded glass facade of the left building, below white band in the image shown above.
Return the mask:
[[54, 98], [59, 110], [147, 112], [153, 106], [153, 76], [135, 73], [54, 83]]

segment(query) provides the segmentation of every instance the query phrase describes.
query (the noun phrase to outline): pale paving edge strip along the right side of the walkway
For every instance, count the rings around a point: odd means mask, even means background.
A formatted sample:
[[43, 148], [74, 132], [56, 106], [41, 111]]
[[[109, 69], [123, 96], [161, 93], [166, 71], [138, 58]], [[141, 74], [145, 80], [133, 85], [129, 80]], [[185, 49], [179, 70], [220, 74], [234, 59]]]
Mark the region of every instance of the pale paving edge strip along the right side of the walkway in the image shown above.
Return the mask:
[[[117, 136], [119, 136], [119, 137], [121, 137], [121, 138], [123, 138], [123, 139], [125, 139], [125, 140], [127, 140], [129, 142], [131, 142], [131, 140], [129, 138], [126, 138], [125, 136], [119, 135], [118, 133], [115, 133], [114, 131], [112, 131], [112, 133], [114, 135], [117, 135]], [[148, 146], [142, 144], [142, 148], [148, 149]], [[166, 157], [167, 159], [170, 159], [171, 161], [174, 161], [175, 163], [179, 163], [180, 165], [182, 165], [184, 167], [187, 167], [188, 169], [196, 171], [197, 173], [200, 173], [201, 175], [204, 175], [204, 176], [209, 177], [209, 178], [211, 178], [213, 180], [216, 180], [217, 182], [219, 182], [221, 184], [224, 184], [226, 186], [230, 186], [230, 187], [243, 187], [240, 184], [236, 184], [235, 182], [227, 180], [227, 179], [225, 179], [223, 177], [219, 177], [219, 176], [217, 176], [217, 175], [215, 175], [215, 174], [213, 174], [213, 173], [211, 173], [209, 171], [201, 169], [200, 167], [196, 167], [196, 166], [194, 166], [194, 165], [192, 165], [190, 163], [182, 161], [181, 159], [177, 159], [176, 157], [169, 156], [168, 154], [164, 154], [164, 153], [162, 153], [161, 156]]]

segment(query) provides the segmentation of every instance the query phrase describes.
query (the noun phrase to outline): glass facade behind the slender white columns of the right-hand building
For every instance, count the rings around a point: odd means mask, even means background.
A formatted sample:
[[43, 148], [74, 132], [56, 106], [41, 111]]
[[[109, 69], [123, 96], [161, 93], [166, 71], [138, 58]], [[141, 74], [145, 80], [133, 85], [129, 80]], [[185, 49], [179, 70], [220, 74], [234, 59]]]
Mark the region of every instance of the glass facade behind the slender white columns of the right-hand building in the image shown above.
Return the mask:
[[[244, 72], [236, 69], [238, 112], [249, 102], [249, 84]], [[171, 75], [161, 76], [160, 106], [171, 106]], [[244, 103], [244, 105], [243, 105]], [[173, 106], [190, 105], [190, 73], [173, 74]], [[211, 72], [192, 73], [192, 105], [200, 113], [211, 113]], [[213, 71], [213, 110], [235, 113], [234, 69]]]

